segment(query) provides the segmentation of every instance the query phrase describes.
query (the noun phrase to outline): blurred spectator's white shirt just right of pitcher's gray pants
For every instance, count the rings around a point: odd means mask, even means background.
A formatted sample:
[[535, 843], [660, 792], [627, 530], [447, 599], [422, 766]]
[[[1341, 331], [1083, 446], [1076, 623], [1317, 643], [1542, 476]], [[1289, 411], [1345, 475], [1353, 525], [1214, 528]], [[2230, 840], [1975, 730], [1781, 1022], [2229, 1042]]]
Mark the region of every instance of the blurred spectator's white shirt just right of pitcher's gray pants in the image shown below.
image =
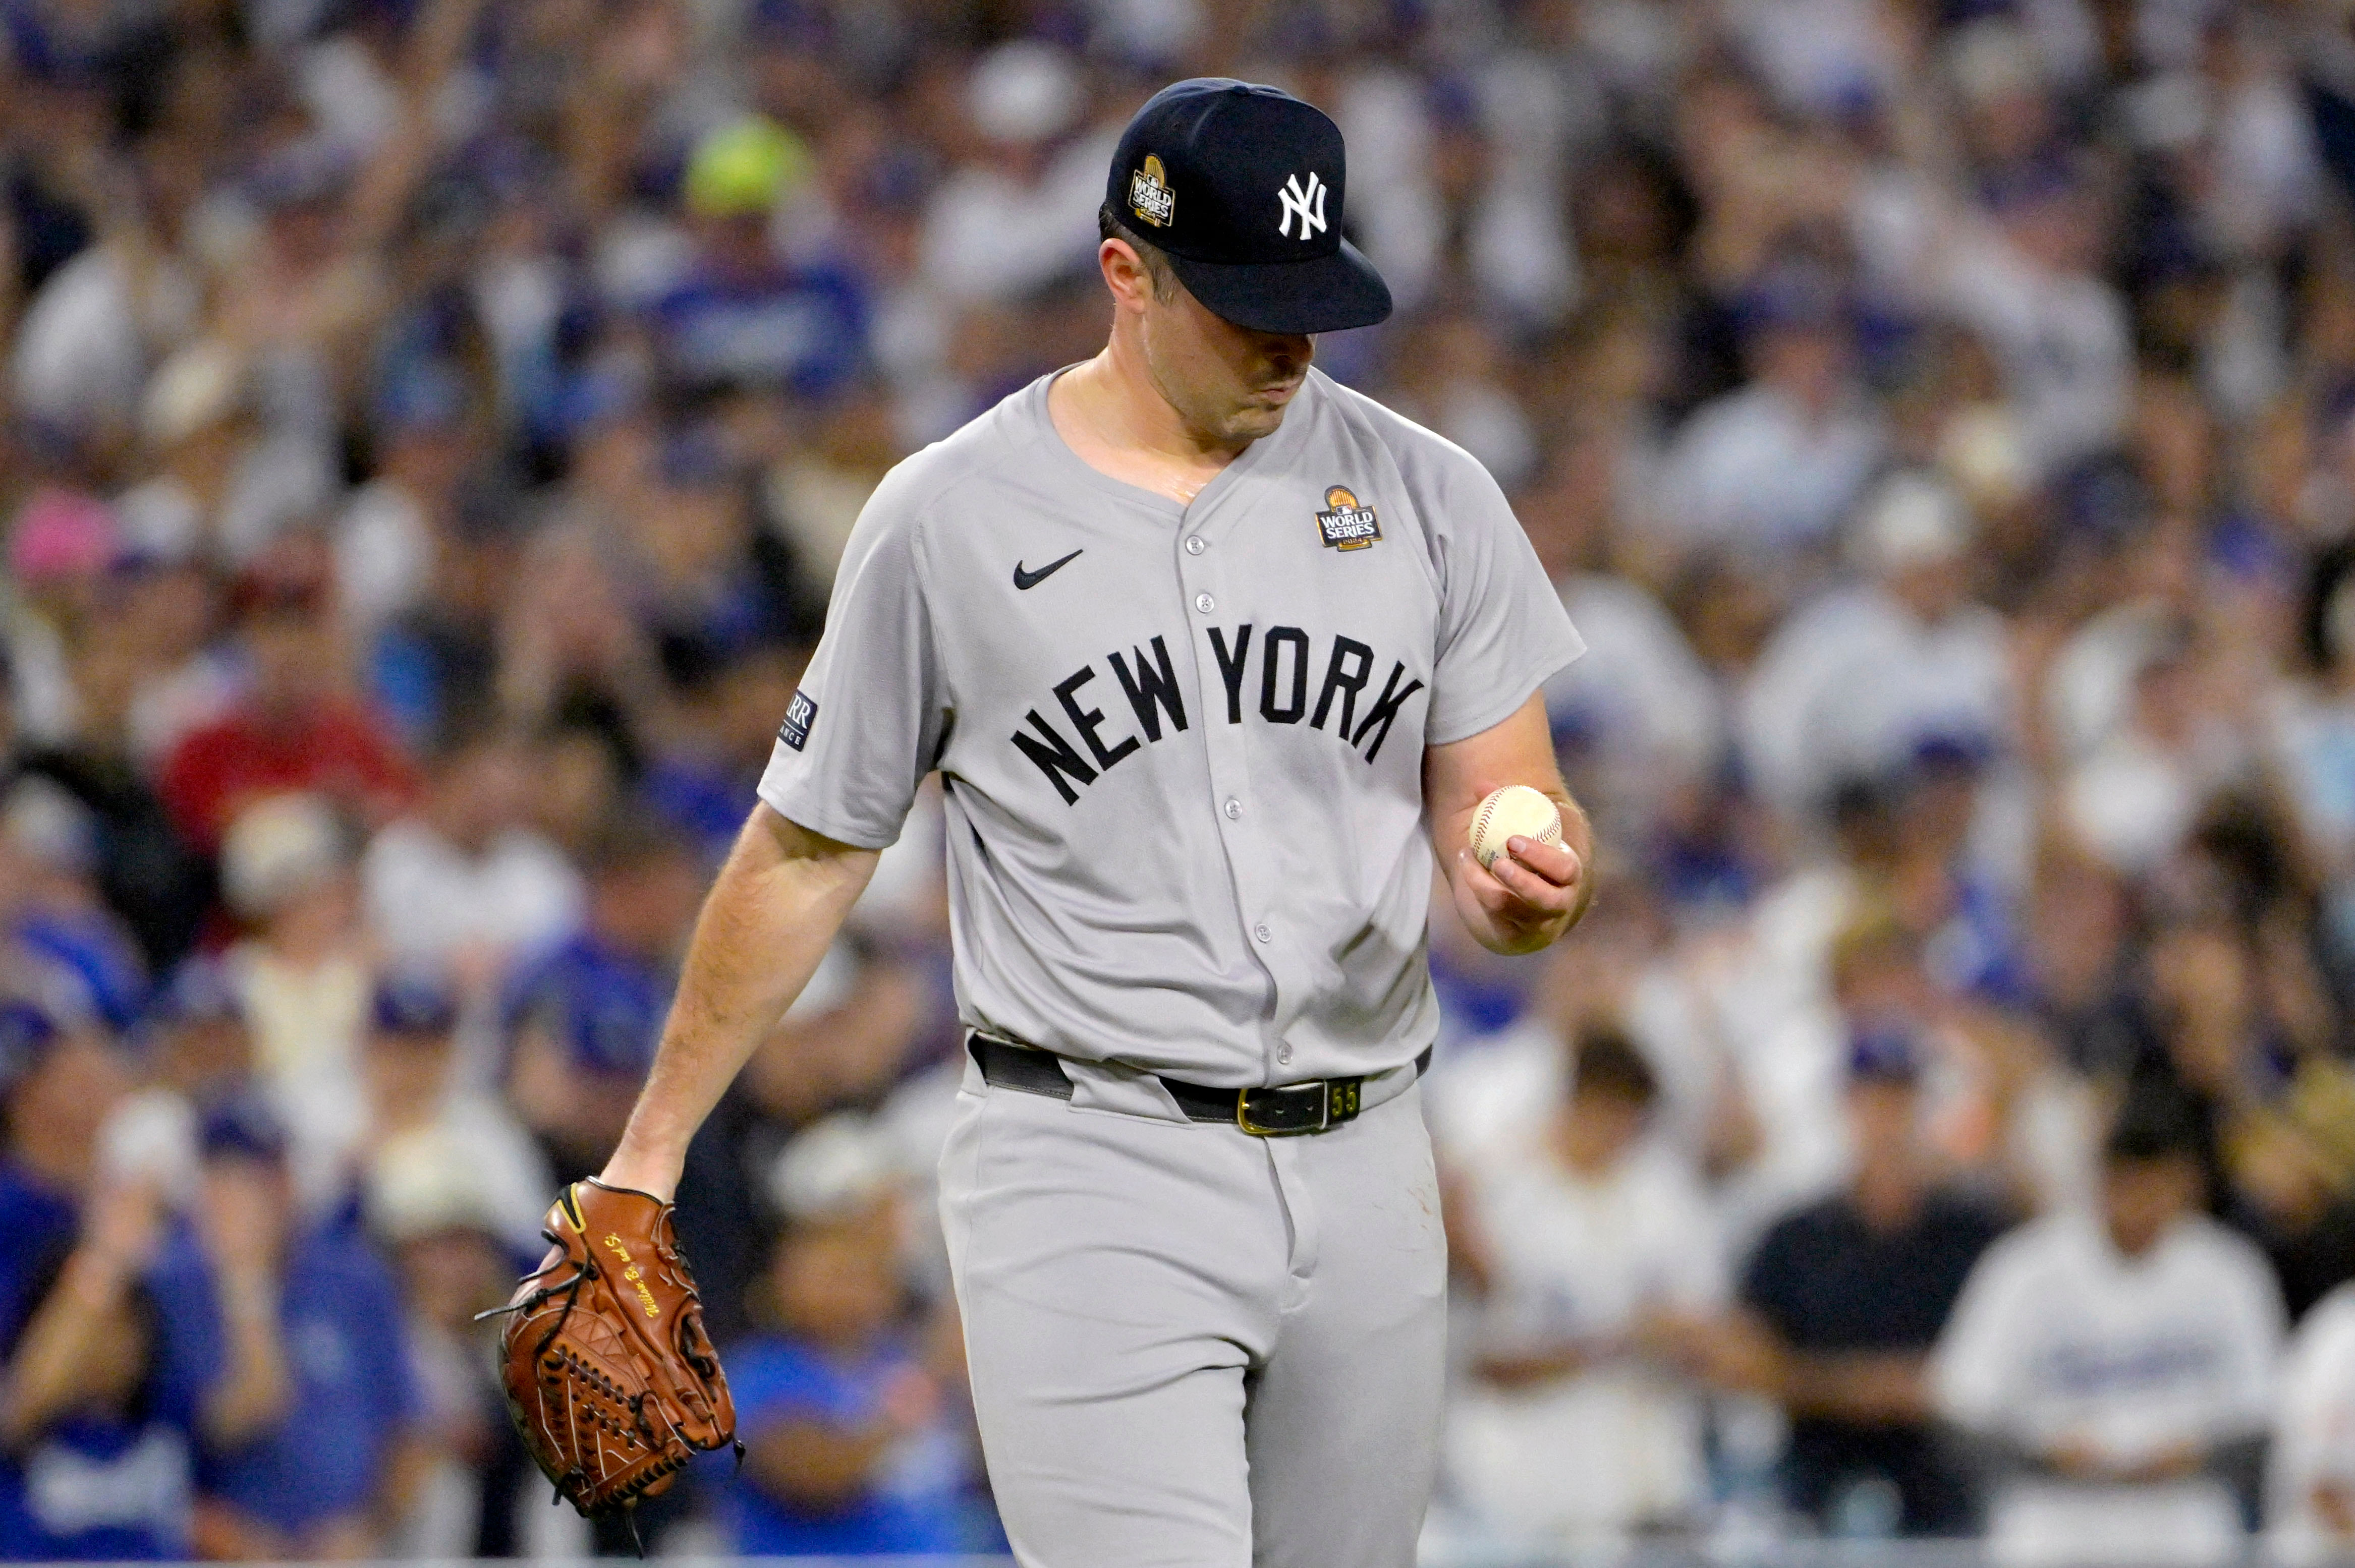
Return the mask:
[[[1470, 1333], [1491, 1354], [1608, 1342], [1651, 1311], [1726, 1302], [1700, 1184], [1660, 1144], [1583, 1180], [1495, 1140], [1465, 1175], [1495, 1264]], [[1618, 1535], [1705, 1500], [1700, 1434], [1700, 1396], [1625, 1358], [1524, 1389], [1465, 1382], [1444, 1462], [1455, 1497], [1517, 1537]]]

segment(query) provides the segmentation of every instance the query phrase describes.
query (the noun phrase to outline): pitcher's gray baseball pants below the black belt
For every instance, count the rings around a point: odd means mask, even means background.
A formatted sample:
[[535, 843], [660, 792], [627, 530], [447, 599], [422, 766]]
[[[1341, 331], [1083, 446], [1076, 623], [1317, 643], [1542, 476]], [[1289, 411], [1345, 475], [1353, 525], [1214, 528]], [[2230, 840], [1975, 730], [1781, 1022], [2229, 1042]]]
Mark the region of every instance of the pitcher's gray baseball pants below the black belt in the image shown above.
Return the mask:
[[1415, 1088], [1262, 1140], [968, 1064], [940, 1212], [1022, 1568], [1413, 1566], [1446, 1349]]

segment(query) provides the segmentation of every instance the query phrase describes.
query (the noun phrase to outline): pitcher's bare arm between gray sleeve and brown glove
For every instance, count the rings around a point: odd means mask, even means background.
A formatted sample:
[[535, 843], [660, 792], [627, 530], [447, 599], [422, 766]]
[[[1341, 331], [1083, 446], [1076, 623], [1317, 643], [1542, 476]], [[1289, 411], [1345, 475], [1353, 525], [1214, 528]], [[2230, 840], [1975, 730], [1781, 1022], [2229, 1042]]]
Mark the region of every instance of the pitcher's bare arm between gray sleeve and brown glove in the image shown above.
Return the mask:
[[874, 850], [754, 808], [695, 918], [655, 1069], [605, 1182], [671, 1198], [695, 1130], [801, 996], [874, 866]]

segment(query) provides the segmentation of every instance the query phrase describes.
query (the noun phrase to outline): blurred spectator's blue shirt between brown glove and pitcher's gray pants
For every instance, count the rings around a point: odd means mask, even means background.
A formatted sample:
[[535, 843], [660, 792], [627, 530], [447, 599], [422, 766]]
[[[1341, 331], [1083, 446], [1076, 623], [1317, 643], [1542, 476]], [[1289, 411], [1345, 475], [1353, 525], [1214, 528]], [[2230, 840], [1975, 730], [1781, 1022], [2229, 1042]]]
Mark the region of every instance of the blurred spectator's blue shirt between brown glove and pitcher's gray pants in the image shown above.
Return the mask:
[[[728, 1354], [737, 1429], [756, 1443], [789, 1422], [864, 1427], [911, 1358], [904, 1344], [885, 1344], [853, 1363], [791, 1337], [739, 1344]], [[973, 1547], [966, 1469], [966, 1448], [942, 1422], [888, 1455], [874, 1490], [827, 1514], [772, 1497], [747, 1474], [732, 1488], [735, 1549], [742, 1556], [966, 1552]]]

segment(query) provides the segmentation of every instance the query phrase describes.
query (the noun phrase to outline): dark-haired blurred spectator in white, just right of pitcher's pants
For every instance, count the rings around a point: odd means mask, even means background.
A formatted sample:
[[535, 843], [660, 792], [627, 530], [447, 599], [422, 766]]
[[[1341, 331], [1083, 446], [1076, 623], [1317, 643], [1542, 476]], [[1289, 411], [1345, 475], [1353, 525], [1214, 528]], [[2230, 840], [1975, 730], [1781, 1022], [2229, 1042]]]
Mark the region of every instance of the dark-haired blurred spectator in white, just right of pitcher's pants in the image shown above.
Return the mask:
[[1707, 1495], [1689, 1380], [1726, 1304], [1707, 1203], [1646, 1142], [1660, 1083], [1590, 1026], [1531, 1137], [1462, 1151], [1455, 1269], [1477, 1300], [1448, 1490], [1517, 1542], [1689, 1530]]

